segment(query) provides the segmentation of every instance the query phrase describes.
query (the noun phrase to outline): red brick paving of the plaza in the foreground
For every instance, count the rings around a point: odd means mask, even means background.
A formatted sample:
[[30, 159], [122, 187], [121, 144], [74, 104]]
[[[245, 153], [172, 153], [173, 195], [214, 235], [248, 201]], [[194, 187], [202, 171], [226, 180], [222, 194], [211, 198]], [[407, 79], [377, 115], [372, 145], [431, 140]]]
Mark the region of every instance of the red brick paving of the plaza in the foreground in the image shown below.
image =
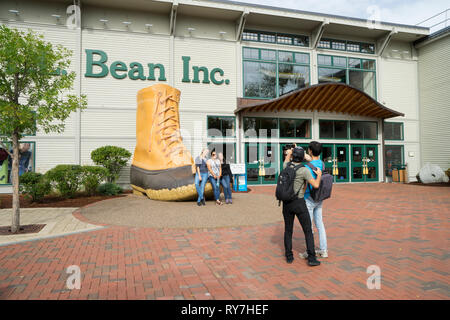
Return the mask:
[[[273, 187], [254, 193], [273, 197]], [[298, 223], [296, 259], [286, 264], [281, 221], [202, 229], [109, 226], [3, 246], [0, 298], [449, 299], [449, 208], [449, 188], [337, 185], [324, 208], [329, 258], [314, 268], [297, 256], [305, 250]], [[71, 265], [81, 270], [80, 290], [66, 286]], [[366, 285], [373, 265], [381, 271], [379, 290]]]

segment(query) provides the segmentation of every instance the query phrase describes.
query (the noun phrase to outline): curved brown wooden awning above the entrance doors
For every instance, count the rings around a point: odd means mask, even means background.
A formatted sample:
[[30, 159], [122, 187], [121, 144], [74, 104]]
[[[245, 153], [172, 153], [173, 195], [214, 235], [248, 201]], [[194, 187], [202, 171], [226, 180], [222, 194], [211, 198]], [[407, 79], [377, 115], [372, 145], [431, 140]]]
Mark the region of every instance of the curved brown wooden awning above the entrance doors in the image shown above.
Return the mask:
[[404, 116], [386, 108], [363, 91], [344, 83], [321, 83], [302, 88], [272, 100], [241, 105], [234, 111], [319, 111], [375, 118]]

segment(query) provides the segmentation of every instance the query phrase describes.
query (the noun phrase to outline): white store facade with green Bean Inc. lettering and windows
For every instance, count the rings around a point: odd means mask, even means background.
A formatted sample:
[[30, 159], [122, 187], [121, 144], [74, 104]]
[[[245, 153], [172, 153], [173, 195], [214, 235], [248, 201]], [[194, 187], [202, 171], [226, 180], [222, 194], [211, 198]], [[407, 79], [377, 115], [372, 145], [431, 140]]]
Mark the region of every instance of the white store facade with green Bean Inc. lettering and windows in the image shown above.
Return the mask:
[[[181, 131], [192, 155], [218, 148], [231, 162], [246, 163], [249, 184], [274, 184], [283, 147], [312, 140], [338, 167], [336, 182], [389, 180], [395, 165], [407, 165], [414, 181], [423, 163], [427, 128], [421, 129], [414, 42], [428, 28], [204, 0], [6, 0], [0, 23], [72, 50], [73, 91], [88, 99], [62, 134], [23, 139], [31, 143], [30, 170], [91, 164], [90, 153], [104, 145], [133, 152], [136, 94], [156, 83], [181, 90]], [[333, 108], [236, 112], [327, 82], [355, 87], [402, 116]], [[129, 184], [129, 166], [119, 183]], [[0, 192], [11, 192], [7, 175]]]

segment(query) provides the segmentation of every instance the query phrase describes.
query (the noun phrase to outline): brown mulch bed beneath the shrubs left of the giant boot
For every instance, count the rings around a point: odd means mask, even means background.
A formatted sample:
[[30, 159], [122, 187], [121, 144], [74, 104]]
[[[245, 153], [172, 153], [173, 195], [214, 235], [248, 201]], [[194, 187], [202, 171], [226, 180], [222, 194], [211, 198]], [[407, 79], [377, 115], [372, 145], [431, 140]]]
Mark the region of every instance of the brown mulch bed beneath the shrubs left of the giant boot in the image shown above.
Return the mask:
[[[48, 195], [46, 196], [42, 202], [32, 202], [30, 199], [26, 198], [25, 196], [20, 196], [20, 207], [21, 208], [78, 208], [83, 207], [88, 204], [106, 200], [106, 199], [112, 199], [112, 198], [118, 198], [118, 197], [124, 197], [126, 194], [131, 193], [131, 191], [124, 191], [123, 194], [117, 195], [117, 196], [102, 196], [102, 195], [96, 195], [96, 196], [86, 196], [83, 193], [78, 194], [75, 198], [72, 199], [65, 199], [61, 196], [55, 196], [55, 195]], [[12, 194], [0, 194], [0, 209], [9, 209], [12, 207]]]

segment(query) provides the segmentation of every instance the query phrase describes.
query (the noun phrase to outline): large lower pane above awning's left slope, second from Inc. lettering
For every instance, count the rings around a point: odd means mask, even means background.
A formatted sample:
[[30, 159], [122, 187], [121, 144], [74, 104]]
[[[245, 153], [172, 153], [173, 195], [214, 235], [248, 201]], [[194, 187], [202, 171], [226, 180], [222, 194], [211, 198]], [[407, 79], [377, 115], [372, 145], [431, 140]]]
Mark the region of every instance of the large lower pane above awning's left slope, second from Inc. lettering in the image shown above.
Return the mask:
[[309, 67], [293, 64], [278, 65], [278, 94], [309, 86]]

